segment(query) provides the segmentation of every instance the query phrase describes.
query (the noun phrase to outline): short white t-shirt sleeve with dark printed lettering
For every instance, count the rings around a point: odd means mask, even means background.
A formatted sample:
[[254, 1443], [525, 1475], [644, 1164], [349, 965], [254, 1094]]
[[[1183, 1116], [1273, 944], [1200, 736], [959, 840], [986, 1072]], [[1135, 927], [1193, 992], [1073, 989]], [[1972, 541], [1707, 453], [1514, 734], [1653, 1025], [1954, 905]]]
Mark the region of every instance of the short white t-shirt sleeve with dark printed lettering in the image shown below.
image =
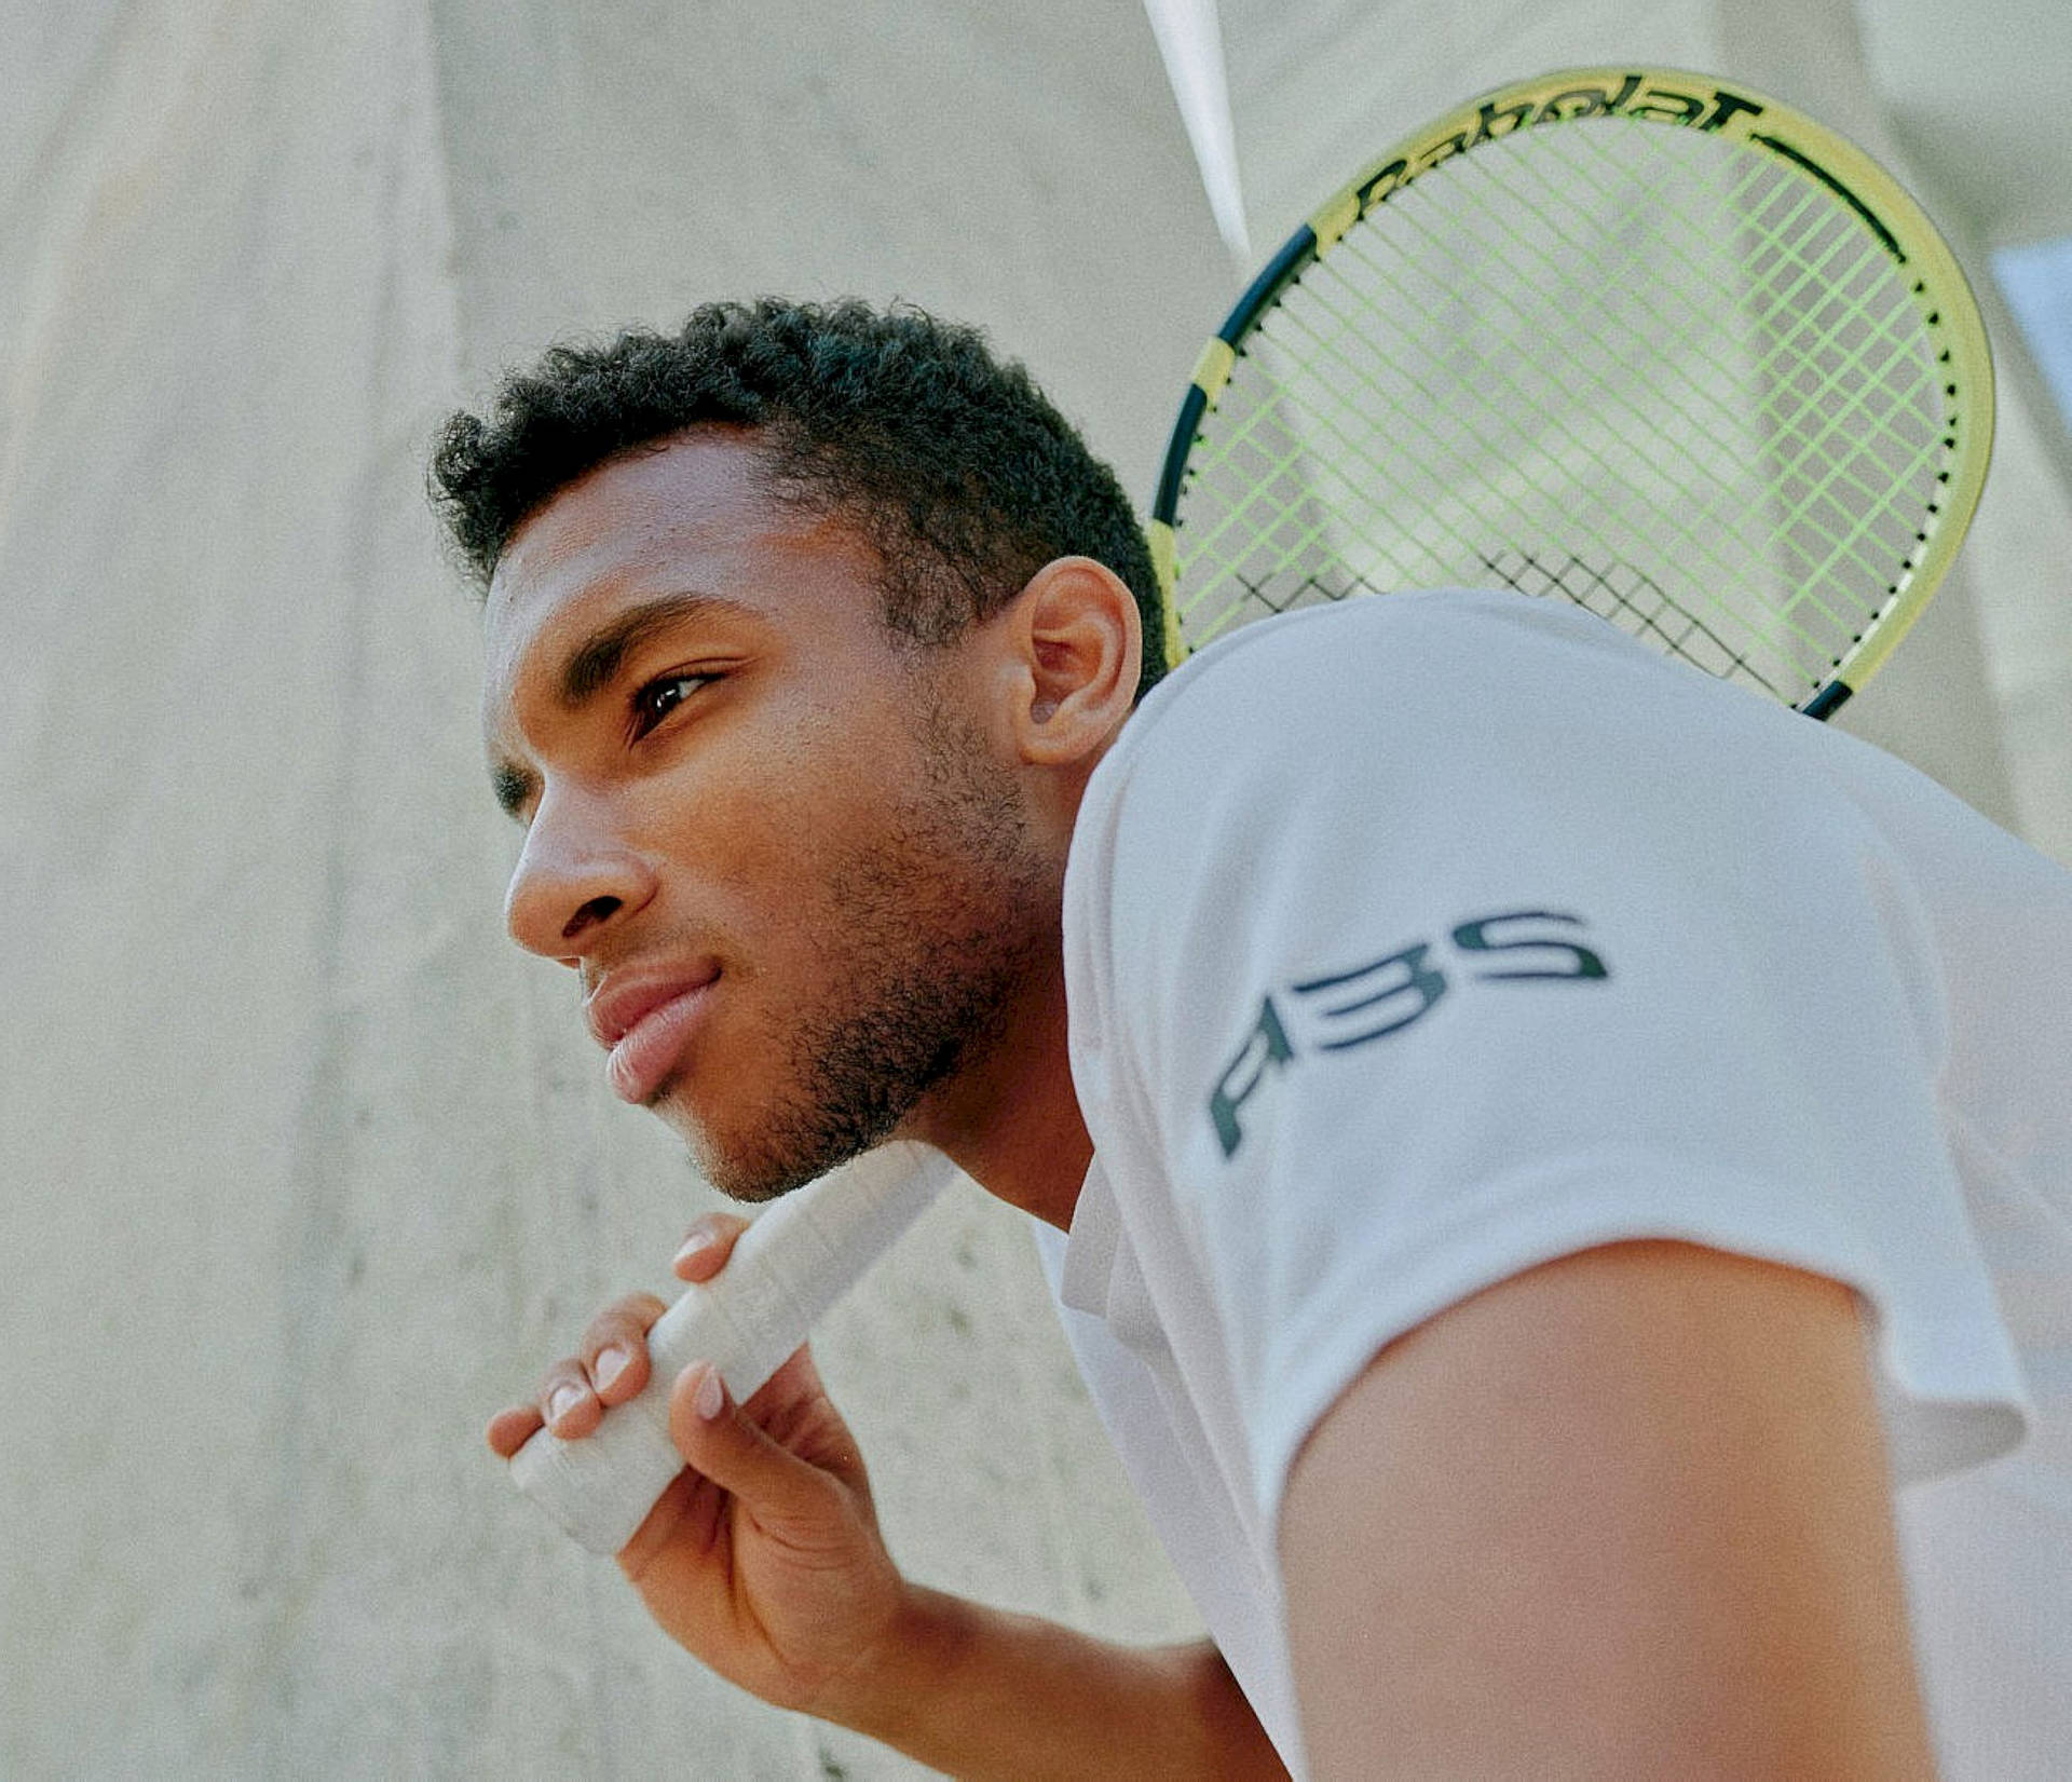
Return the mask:
[[1616, 1239], [1854, 1287], [1902, 1479], [2012, 1446], [1927, 926], [1805, 719], [1566, 632], [1463, 667], [1444, 620], [1204, 663], [1075, 839], [1075, 1028], [1210, 1283], [1266, 1523], [1384, 1343]]

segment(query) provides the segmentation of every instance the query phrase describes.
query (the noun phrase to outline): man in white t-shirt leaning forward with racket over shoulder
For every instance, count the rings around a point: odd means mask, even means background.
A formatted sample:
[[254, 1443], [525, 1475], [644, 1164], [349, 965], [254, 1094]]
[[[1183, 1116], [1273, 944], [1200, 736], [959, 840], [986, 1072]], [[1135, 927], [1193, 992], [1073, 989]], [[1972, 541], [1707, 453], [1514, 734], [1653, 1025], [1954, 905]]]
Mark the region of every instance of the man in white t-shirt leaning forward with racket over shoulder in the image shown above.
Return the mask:
[[[1214, 1637], [905, 1583], [800, 1353], [675, 1382], [620, 1562], [690, 1651], [957, 1776], [2072, 1749], [2062, 872], [1508, 595], [1251, 626], [1138, 709], [1115, 479], [920, 315], [559, 350], [435, 477], [510, 928], [613, 1090], [742, 1200], [897, 1136], [1032, 1212]], [[491, 1446], [593, 1430], [659, 1310]]]

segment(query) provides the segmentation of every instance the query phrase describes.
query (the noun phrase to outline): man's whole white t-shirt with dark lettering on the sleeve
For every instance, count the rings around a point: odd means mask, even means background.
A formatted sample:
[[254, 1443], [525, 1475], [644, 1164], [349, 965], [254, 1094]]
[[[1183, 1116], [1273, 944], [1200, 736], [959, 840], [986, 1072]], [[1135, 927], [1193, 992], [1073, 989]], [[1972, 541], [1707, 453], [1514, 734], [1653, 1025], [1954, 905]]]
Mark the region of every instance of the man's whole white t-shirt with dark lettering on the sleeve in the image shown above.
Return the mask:
[[1303, 1436], [1440, 1307], [1637, 1237], [1863, 1295], [1946, 1772], [2072, 1774], [2072, 876], [1587, 613], [1390, 595], [1144, 702], [1065, 966], [1096, 1160], [1044, 1258], [1297, 1774]]

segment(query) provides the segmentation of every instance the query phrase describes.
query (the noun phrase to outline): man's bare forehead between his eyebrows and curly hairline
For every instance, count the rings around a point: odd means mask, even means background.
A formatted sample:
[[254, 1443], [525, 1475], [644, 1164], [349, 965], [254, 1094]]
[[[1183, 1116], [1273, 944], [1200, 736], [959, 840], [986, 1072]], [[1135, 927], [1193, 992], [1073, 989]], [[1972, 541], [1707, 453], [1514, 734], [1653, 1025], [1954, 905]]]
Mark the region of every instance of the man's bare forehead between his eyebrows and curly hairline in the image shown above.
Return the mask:
[[876, 557], [858, 533], [771, 493], [740, 427], [700, 427], [607, 460], [512, 535], [483, 609], [491, 729], [520, 682], [551, 671], [642, 603], [717, 597], [783, 628], [874, 624]]

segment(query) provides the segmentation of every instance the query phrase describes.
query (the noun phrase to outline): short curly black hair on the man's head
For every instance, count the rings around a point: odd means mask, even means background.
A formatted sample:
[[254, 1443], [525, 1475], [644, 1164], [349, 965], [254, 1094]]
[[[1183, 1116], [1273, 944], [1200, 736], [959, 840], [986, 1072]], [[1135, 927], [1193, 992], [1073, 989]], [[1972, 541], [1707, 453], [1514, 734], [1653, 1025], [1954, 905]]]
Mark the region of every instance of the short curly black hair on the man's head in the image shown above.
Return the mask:
[[1115, 472], [976, 327], [903, 305], [709, 303], [673, 336], [555, 346], [503, 379], [487, 419], [448, 419], [431, 497], [487, 588], [555, 493], [700, 423], [754, 427], [775, 487], [858, 526], [891, 630], [947, 642], [1053, 557], [1086, 555], [1144, 615], [1140, 692], [1164, 673], [1158, 580]]

